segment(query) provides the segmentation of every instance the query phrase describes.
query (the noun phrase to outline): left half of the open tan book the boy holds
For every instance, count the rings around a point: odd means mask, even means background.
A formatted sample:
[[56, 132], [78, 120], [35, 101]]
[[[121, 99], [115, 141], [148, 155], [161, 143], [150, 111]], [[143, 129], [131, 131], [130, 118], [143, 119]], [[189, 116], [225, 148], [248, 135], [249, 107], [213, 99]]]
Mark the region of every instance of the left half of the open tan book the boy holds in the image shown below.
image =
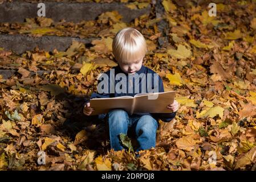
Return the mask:
[[124, 109], [128, 113], [132, 110], [134, 98], [131, 96], [112, 97], [112, 98], [92, 98], [90, 105], [95, 109], [91, 115], [106, 114], [111, 109]]

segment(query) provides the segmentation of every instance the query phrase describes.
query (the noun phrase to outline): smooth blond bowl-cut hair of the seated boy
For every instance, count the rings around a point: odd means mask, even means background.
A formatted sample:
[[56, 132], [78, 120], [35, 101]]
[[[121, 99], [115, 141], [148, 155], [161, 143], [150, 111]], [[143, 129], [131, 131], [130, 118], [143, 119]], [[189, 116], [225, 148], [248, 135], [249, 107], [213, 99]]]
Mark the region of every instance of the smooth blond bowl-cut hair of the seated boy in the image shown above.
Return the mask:
[[133, 63], [145, 56], [147, 43], [135, 28], [127, 27], [117, 32], [112, 43], [115, 59], [121, 63]]

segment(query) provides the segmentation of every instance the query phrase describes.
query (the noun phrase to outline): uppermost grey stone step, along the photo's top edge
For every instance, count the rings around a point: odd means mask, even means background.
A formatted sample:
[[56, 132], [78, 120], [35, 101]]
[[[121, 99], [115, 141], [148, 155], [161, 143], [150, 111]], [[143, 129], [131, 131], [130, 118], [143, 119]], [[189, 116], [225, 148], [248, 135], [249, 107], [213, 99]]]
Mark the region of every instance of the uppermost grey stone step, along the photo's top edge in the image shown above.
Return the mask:
[[[46, 5], [46, 18], [52, 18], [55, 22], [65, 19], [67, 22], [80, 22], [81, 20], [94, 20], [100, 14], [107, 11], [118, 11], [123, 16], [123, 22], [131, 22], [133, 19], [149, 14], [151, 5], [144, 9], [132, 10], [124, 3], [95, 3], [95, 2], [44, 2]], [[0, 22], [24, 22], [25, 18], [36, 18], [38, 3], [24, 1], [4, 2], [0, 4]]]

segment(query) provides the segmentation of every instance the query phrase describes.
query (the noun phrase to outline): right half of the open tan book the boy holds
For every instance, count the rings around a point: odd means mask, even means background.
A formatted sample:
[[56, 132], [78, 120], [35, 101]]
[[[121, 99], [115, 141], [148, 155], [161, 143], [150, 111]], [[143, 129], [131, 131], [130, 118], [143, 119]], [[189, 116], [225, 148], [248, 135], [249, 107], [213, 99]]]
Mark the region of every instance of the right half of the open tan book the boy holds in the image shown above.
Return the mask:
[[133, 113], [170, 113], [166, 107], [174, 101], [176, 91], [151, 93], [159, 94], [155, 100], [149, 100], [150, 94], [135, 97], [135, 109]]

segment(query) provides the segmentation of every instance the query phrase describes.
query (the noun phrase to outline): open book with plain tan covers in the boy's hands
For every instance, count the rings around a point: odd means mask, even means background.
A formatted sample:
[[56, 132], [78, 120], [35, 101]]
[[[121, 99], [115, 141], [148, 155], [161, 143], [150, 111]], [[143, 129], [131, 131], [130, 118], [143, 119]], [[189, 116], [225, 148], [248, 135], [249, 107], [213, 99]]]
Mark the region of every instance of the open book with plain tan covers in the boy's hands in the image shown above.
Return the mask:
[[[159, 93], [138, 93], [134, 97], [92, 98], [90, 105], [94, 108], [91, 115], [105, 114], [111, 109], [124, 109], [133, 113], [170, 113], [167, 109], [174, 101], [176, 91]], [[158, 94], [156, 96], [156, 94]]]

